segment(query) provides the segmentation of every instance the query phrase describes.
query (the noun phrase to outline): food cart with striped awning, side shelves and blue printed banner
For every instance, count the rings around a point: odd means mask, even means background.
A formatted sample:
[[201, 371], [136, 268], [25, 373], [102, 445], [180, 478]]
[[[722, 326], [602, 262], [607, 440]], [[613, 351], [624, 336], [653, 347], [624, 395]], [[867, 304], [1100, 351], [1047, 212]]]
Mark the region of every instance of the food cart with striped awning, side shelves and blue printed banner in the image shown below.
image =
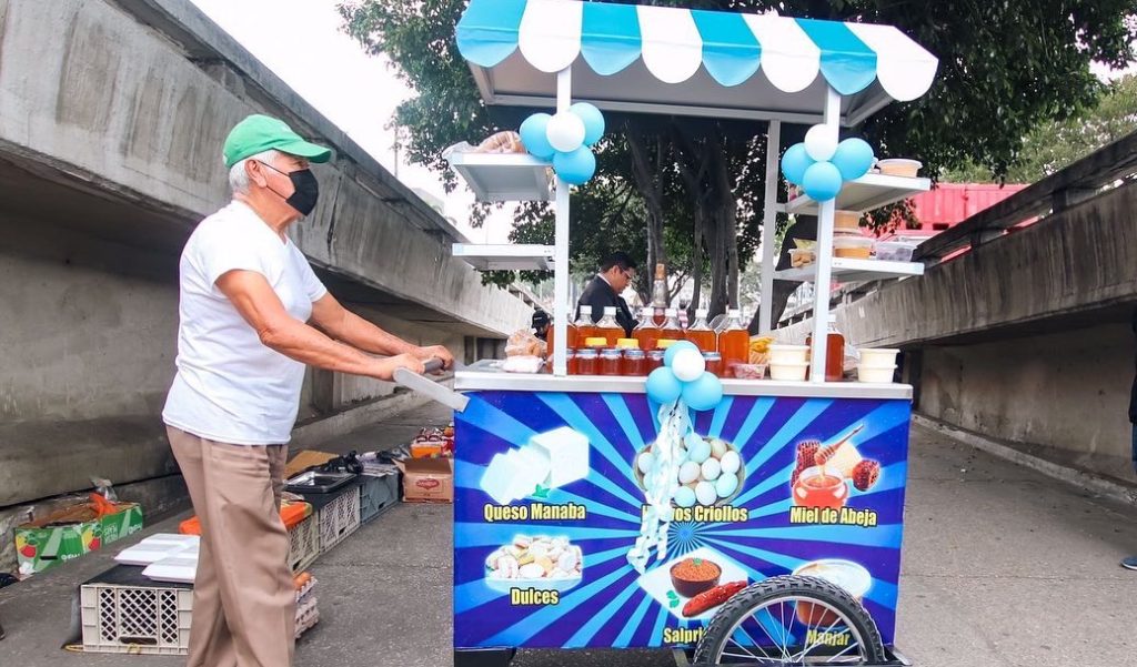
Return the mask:
[[[836, 136], [915, 99], [938, 65], [888, 26], [573, 0], [472, 0], [457, 41], [488, 105], [752, 119], [771, 147], [782, 123]], [[779, 153], [767, 152], [763, 293], [775, 214], [819, 216], [816, 261], [777, 277], [815, 284], [813, 340], [827, 340], [833, 281], [922, 273], [835, 258], [835, 210], [929, 182], [870, 173], [835, 199], [778, 203]], [[456, 664], [505, 664], [516, 648], [895, 661], [912, 389], [825, 382], [821, 344], [807, 382], [723, 380], [703, 410], [657, 405], [644, 378], [570, 376], [568, 184], [550, 184], [553, 162], [531, 155], [449, 159], [483, 200], [556, 207], [551, 247], [455, 247], [481, 269], [551, 268], [556, 298], [550, 374], [457, 374], [468, 405], [456, 418]], [[761, 308], [770, 331], [769, 298]], [[672, 498], [677, 474], [694, 500]]]

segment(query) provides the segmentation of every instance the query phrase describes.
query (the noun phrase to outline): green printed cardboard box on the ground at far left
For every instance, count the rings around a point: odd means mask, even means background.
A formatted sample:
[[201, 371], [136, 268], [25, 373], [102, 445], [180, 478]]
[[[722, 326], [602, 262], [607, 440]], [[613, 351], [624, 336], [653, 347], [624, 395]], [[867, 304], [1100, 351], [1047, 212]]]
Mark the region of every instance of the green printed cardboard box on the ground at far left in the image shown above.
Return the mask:
[[119, 508], [121, 511], [100, 518], [88, 503], [75, 505], [17, 526], [19, 573], [43, 572], [141, 531], [142, 506], [126, 502]]

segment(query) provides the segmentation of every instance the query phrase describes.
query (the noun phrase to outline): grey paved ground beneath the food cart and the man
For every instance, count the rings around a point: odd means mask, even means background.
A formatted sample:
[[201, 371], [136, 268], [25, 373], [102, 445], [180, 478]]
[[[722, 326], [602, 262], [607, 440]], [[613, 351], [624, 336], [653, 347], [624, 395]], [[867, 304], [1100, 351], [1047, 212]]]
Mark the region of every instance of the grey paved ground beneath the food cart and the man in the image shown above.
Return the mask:
[[[437, 410], [354, 434], [341, 449], [406, 441]], [[898, 645], [918, 667], [1137, 665], [1137, 511], [916, 428]], [[400, 506], [325, 555], [321, 624], [297, 667], [450, 661], [450, 508]], [[0, 665], [177, 666], [179, 658], [68, 656], [69, 592], [89, 557], [0, 591]], [[520, 667], [665, 667], [667, 652], [521, 652]]]

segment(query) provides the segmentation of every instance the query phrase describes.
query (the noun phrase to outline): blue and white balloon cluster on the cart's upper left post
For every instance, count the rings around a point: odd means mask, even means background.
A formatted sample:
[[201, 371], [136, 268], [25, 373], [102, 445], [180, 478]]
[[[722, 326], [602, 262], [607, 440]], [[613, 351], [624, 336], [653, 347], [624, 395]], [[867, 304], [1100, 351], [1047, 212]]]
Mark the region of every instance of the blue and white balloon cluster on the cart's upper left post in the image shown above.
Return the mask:
[[521, 124], [521, 142], [536, 158], [553, 160], [557, 176], [583, 185], [596, 173], [591, 147], [604, 136], [604, 115], [588, 102], [576, 102], [555, 116], [533, 114]]

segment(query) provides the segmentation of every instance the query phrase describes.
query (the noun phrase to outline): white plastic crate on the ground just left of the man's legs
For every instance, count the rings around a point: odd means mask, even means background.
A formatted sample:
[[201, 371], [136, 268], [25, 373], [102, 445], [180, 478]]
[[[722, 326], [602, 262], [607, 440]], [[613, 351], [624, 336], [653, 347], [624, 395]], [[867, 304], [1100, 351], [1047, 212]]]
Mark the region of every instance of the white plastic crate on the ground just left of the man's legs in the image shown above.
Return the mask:
[[190, 648], [191, 589], [85, 584], [80, 599], [84, 651], [184, 656]]

